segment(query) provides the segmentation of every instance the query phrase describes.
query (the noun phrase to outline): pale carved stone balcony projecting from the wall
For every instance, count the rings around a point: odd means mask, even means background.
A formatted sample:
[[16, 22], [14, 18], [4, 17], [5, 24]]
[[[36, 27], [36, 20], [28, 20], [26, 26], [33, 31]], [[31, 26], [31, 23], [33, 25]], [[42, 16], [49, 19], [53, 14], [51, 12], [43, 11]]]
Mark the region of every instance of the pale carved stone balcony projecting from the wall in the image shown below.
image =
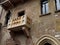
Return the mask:
[[22, 27], [31, 27], [31, 19], [27, 17], [26, 15], [23, 15], [21, 17], [15, 18], [8, 22], [7, 29], [8, 30], [22, 30]]

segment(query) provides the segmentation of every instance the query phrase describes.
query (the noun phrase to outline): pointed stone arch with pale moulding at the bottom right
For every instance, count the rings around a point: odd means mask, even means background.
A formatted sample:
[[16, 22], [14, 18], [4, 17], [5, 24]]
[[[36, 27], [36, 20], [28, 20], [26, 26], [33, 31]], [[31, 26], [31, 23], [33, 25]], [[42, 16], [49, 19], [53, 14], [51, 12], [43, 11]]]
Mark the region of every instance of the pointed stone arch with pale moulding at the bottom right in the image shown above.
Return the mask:
[[36, 45], [44, 45], [45, 43], [49, 43], [50, 45], [60, 45], [60, 42], [59, 42], [59, 40], [57, 40], [55, 37], [53, 37], [53, 36], [51, 36], [51, 35], [42, 35], [39, 39], [38, 39], [38, 41], [37, 41], [37, 43], [36, 43]]

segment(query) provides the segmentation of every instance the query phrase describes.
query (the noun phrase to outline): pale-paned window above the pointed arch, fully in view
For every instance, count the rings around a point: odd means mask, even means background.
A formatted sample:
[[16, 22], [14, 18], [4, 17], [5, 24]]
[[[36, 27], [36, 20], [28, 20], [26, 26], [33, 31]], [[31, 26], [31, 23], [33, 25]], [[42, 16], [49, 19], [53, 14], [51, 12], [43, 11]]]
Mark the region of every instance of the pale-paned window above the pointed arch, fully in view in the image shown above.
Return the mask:
[[48, 0], [41, 1], [41, 14], [49, 13]]

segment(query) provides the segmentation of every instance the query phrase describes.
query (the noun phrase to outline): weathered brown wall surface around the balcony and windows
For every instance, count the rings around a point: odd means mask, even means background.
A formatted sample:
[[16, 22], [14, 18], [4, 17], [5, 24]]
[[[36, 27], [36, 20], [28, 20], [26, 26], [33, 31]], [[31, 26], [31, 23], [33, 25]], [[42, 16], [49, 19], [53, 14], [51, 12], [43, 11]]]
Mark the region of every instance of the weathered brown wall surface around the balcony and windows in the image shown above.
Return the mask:
[[[17, 17], [17, 13], [25, 10], [25, 15], [29, 16], [32, 19], [32, 26], [31, 26], [31, 37], [32, 41], [35, 44], [37, 40], [40, 38], [40, 36], [44, 34], [51, 34], [54, 35], [56, 29], [56, 17], [55, 15], [60, 13], [55, 13], [55, 2], [54, 0], [49, 0], [49, 13], [50, 15], [42, 16], [41, 15], [41, 7], [40, 7], [40, 0], [32, 0], [28, 1], [25, 4], [19, 5], [15, 7], [14, 9], [11, 9], [11, 19]], [[2, 15], [2, 24], [4, 25], [5, 21], [5, 15], [7, 11], [3, 11]], [[59, 17], [59, 16], [58, 16]], [[54, 34], [53, 34], [54, 33]], [[6, 28], [2, 29], [2, 45], [5, 45], [5, 41], [7, 38], [10, 38], [9, 36], [9, 31], [7, 31]], [[26, 37], [22, 36], [17, 36], [16, 39], [21, 41], [21, 45], [26, 45]]]

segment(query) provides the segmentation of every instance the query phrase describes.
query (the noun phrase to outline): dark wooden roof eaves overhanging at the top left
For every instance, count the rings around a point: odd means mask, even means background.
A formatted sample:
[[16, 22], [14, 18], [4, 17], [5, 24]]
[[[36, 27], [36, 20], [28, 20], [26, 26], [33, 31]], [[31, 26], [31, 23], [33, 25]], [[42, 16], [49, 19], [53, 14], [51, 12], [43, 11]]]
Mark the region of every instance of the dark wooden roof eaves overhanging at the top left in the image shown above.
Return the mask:
[[2, 5], [2, 7], [5, 10], [11, 9], [15, 6], [17, 6], [19, 3], [24, 3], [27, 0], [0, 0], [0, 5]]

